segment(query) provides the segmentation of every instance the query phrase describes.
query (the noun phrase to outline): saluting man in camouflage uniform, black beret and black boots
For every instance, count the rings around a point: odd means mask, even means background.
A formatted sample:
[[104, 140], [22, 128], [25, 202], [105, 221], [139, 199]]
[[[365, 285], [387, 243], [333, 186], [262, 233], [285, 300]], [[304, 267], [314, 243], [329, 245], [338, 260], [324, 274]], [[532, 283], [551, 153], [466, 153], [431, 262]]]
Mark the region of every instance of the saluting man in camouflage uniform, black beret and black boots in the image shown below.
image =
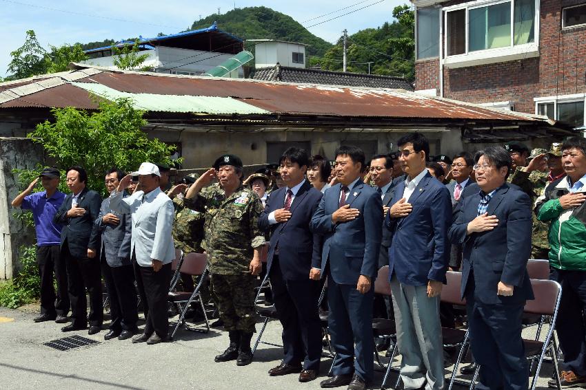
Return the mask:
[[[210, 186], [216, 177], [219, 184]], [[254, 285], [261, 272], [261, 247], [265, 243], [258, 226], [263, 211], [261, 199], [242, 185], [242, 160], [230, 154], [218, 158], [185, 197], [201, 199], [205, 204], [202, 246], [210, 259], [220, 318], [230, 336], [230, 346], [214, 360], [248, 365], [252, 362]]]

